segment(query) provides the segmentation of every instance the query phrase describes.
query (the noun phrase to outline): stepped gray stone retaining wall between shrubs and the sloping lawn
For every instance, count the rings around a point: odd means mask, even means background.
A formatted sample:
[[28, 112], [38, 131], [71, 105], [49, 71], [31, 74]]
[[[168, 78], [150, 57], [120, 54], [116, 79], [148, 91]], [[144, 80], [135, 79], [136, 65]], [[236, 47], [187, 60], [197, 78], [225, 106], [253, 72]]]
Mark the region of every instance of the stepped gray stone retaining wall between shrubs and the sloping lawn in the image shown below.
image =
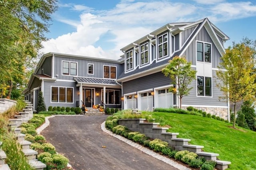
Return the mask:
[[118, 119], [118, 124], [127, 127], [134, 132], [140, 132], [150, 138], [158, 138], [168, 142], [176, 150], [188, 150], [195, 152], [199, 157], [204, 157], [206, 160], [214, 160], [217, 162], [216, 168], [225, 170], [231, 162], [217, 160], [219, 154], [202, 152], [204, 146], [188, 144], [190, 139], [177, 138], [179, 133], [166, 132], [165, 127], [158, 127], [159, 123], [144, 123], [146, 119]]

